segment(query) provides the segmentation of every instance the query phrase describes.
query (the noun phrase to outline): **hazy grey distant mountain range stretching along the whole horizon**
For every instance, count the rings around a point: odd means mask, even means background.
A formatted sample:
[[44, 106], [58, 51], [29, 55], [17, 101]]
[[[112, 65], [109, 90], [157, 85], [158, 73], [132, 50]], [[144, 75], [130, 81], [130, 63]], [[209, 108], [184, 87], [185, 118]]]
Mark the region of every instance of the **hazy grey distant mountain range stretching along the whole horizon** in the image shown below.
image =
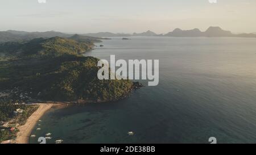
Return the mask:
[[[129, 37], [129, 36], [172, 36], [172, 37], [256, 37], [256, 33], [240, 33], [240, 34], [234, 34], [230, 31], [222, 30], [220, 27], [209, 27], [207, 31], [203, 32], [200, 31], [198, 28], [195, 28], [193, 30], [181, 30], [180, 28], [176, 28], [172, 32], [168, 32], [166, 34], [157, 34], [152, 31], [146, 31], [142, 33], [111, 33], [111, 32], [98, 32], [98, 33], [85, 33], [79, 36], [76, 36], [75, 34], [68, 34], [68, 33], [62, 33], [62, 32], [56, 32], [56, 31], [47, 31], [47, 32], [25, 32], [25, 31], [0, 31], [0, 43], [1, 42], [7, 42], [7, 41], [28, 41], [31, 39], [43, 37], [43, 38], [49, 38], [49, 37], [75, 37], [72, 39], [76, 39], [77, 37], [80, 37], [79, 39], [82, 40], [83, 38], [81, 36], [85, 36], [84, 39], [94, 40], [97, 41], [98, 39], [104, 39], [101, 37]], [[89, 38], [91, 37], [91, 38]], [[93, 38], [94, 37], [94, 38]]]

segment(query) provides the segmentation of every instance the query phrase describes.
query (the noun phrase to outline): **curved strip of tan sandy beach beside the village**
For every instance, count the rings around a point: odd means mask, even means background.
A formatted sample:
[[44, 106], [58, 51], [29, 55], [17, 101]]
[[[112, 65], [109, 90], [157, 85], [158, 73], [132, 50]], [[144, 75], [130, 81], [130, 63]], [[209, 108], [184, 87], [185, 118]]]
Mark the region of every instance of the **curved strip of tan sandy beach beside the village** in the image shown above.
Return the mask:
[[56, 105], [53, 103], [37, 103], [39, 105], [38, 110], [36, 110], [28, 119], [26, 124], [19, 126], [19, 132], [17, 133], [15, 144], [28, 144], [28, 140], [31, 135], [32, 129], [35, 127], [38, 120], [44, 115], [44, 113]]

